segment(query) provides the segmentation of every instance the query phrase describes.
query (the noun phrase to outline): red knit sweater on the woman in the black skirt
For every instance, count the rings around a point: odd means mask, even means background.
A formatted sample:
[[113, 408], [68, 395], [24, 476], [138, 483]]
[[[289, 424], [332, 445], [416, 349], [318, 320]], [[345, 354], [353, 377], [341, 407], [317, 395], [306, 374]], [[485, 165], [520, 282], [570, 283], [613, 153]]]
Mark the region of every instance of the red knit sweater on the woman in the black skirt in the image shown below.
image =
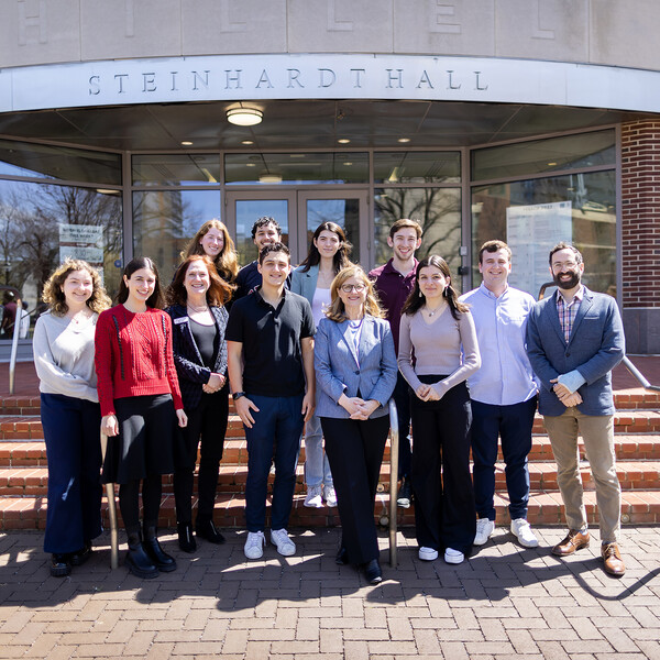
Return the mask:
[[147, 307], [134, 314], [123, 305], [101, 312], [96, 328], [95, 364], [101, 415], [114, 415], [114, 399], [172, 394], [184, 403], [172, 355], [172, 319]]

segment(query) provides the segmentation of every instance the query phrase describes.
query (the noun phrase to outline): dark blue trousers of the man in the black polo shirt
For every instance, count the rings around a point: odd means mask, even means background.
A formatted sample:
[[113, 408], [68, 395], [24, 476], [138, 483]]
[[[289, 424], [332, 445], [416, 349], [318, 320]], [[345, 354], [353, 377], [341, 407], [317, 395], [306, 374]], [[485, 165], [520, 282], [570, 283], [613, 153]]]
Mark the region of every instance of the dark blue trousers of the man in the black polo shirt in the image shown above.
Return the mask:
[[275, 458], [275, 483], [271, 507], [271, 529], [288, 526], [296, 465], [302, 433], [304, 395], [274, 397], [248, 395], [258, 408], [252, 410], [254, 424], [245, 429], [248, 440], [248, 481], [245, 482], [245, 521], [248, 531], [263, 531], [266, 522], [268, 474]]

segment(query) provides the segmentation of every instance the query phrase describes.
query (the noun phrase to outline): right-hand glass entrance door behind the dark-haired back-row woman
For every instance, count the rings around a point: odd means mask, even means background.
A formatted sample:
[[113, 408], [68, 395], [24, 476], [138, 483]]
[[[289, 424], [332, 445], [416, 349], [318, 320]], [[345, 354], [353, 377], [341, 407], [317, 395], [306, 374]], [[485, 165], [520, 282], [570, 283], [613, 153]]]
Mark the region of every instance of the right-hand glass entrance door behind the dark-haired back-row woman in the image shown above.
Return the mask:
[[351, 261], [370, 267], [369, 194], [366, 190], [298, 190], [298, 254], [307, 256], [311, 237], [321, 222], [339, 224], [352, 243]]

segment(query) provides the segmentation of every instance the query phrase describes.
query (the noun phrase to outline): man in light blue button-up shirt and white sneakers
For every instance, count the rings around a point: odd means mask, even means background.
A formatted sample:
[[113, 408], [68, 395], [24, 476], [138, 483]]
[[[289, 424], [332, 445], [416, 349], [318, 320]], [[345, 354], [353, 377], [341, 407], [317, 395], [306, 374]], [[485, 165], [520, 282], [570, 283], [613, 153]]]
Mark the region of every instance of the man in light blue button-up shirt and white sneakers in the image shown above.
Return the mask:
[[468, 380], [472, 402], [472, 476], [476, 504], [475, 546], [495, 530], [497, 439], [506, 464], [512, 532], [526, 548], [539, 543], [527, 522], [531, 426], [538, 387], [525, 349], [527, 316], [535, 299], [508, 285], [512, 251], [504, 241], [487, 241], [479, 253], [482, 285], [461, 297], [476, 326], [482, 367]]

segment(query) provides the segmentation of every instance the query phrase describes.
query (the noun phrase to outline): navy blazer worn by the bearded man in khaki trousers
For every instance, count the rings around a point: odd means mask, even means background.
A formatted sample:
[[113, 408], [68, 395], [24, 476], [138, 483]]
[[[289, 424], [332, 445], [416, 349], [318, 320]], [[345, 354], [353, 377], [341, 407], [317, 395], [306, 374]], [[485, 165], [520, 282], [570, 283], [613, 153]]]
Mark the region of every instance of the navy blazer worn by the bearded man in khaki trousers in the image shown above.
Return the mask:
[[557, 295], [539, 300], [527, 320], [527, 354], [540, 378], [539, 413], [559, 416], [566, 409], [551, 380], [578, 370], [586, 380], [578, 392], [584, 415], [613, 415], [612, 370], [625, 353], [624, 324], [612, 296], [584, 287], [584, 296], [566, 343], [557, 311]]

